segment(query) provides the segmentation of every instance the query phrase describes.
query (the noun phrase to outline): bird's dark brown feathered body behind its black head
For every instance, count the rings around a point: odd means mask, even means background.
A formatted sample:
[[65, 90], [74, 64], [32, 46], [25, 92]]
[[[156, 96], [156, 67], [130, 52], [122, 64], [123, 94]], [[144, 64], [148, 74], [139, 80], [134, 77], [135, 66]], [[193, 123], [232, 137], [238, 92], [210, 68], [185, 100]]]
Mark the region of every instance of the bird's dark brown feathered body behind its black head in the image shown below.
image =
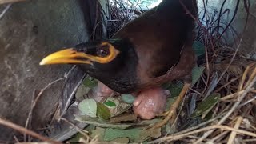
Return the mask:
[[[197, 14], [194, 0], [182, 1]], [[113, 38], [128, 38], [138, 55], [138, 90], [182, 78], [194, 66], [194, 20], [178, 0], [160, 6], [129, 22]]]

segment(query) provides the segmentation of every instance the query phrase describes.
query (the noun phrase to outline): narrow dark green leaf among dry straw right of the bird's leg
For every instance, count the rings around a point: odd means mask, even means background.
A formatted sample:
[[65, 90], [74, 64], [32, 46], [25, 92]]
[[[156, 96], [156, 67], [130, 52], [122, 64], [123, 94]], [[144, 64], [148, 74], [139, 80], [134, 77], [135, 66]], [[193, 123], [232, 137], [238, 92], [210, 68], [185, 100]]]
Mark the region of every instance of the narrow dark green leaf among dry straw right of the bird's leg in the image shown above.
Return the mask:
[[191, 115], [191, 118], [198, 117], [202, 114], [208, 113], [217, 103], [220, 98], [220, 94], [210, 94], [204, 101], [200, 102]]

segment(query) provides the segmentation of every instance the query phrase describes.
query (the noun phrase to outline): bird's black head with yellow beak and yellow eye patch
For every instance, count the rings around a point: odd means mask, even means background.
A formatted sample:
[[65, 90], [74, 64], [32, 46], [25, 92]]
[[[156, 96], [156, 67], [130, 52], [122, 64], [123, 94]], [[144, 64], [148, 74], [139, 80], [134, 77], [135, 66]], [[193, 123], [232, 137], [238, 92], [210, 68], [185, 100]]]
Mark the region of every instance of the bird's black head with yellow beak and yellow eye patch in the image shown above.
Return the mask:
[[114, 70], [121, 66], [129, 51], [129, 42], [112, 39], [86, 42], [46, 56], [40, 65], [74, 64], [86, 72]]

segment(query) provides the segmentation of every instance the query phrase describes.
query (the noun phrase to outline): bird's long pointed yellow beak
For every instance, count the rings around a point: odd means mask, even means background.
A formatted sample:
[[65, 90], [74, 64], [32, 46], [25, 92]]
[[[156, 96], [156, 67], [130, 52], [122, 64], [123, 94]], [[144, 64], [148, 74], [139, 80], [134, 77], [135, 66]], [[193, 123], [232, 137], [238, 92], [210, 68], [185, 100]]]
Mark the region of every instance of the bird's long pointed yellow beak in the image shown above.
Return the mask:
[[60, 50], [43, 58], [40, 65], [50, 64], [91, 64], [88, 55], [73, 48]]

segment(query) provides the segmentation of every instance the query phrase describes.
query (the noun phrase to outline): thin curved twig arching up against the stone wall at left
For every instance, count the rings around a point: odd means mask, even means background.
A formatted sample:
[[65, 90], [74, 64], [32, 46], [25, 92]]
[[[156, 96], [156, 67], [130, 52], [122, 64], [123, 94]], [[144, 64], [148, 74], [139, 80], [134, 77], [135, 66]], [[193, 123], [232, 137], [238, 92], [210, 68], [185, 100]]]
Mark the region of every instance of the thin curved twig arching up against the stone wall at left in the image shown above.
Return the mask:
[[[66, 77], [64, 77], [64, 78], [58, 78], [57, 80], [55, 80], [54, 82], [50, 82], [46, 87], [44, 87], [42, 90], [40, 90], [40, 92], [39, 92], [37, 98], [34, 99], [32, 105], [31, 105], [30, 113], [28, 114], [28, 116], [27, 116], [27, 118], [26, 118], [26, 124], [25, 124], [25, 127], [26, 127], [26, 128], [27, 128], [27, 126], [29, 125], [30, 119], [32, 118], [32, 113], [33, 113], [34, 107], [36, 106], [36, 104], [37, 104], [39, 98], [41, 98], [43, 92], [44, 92], [45, 90], [47, 90], [50, 86], [52, 86], [54, 83], [59, 82], [59, 81], [62, 81], [62, 80], [64, 80], [64, 79], [66, 79]], [[24, 134], [24, 137], [26, 138], [26, 133]]]

